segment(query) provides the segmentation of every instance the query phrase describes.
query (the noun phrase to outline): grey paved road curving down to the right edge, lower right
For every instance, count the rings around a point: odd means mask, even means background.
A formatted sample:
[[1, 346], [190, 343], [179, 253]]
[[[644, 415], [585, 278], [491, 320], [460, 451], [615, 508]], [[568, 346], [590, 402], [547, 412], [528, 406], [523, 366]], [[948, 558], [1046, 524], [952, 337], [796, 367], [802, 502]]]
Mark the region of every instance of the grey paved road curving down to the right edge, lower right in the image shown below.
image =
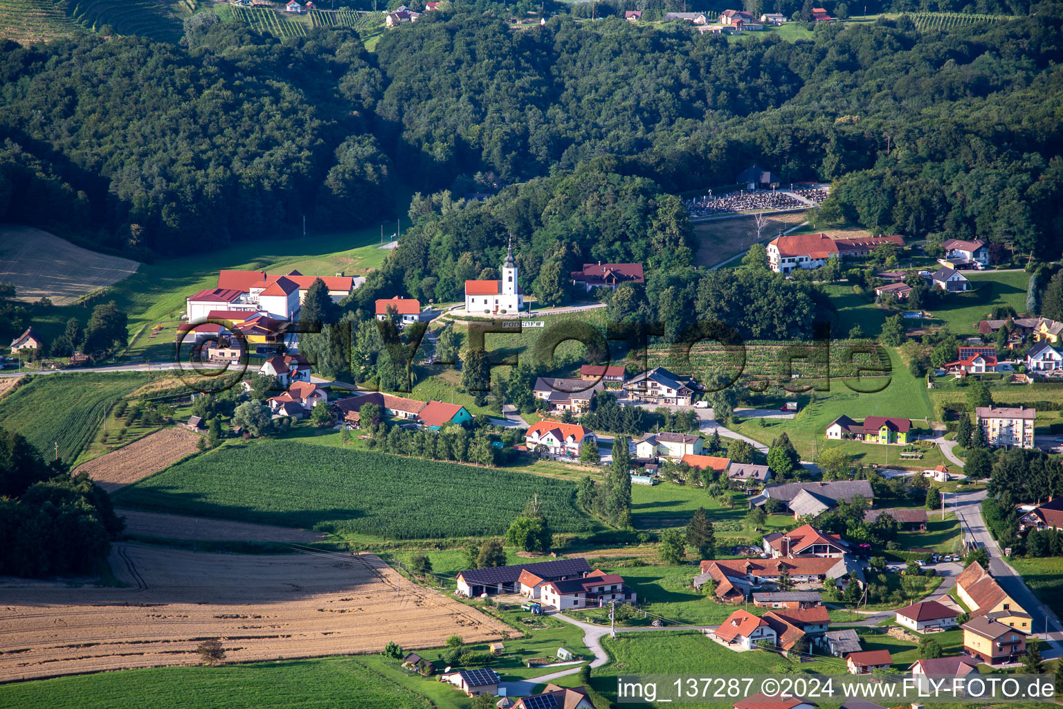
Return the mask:
[[[1000, 546], [993, 539], [982, 519], [982, 501], [985, 490], [973, 492], [957, 492], [948, 496], [948, 502], [956, 505], [957, 517], [961, 520], [963, 533], [975, 541], [981, 542], [990, 553], [989, 572], [993, 574], [1000, 587], [1014, 598], [1026, 612], [1033, 617], [1032, 631], [1041, 637], [1047, 627], [1047, 640], [1052, 649], [1044, 653], [1045, 659], [1063, 657], [1063, 623], [1060, 623], [1050, 609], [1042, 604], [1030, 591], [1023, 577], [1006, 561]], [[1047, 622], [1047, 625], [1046, 625]]]

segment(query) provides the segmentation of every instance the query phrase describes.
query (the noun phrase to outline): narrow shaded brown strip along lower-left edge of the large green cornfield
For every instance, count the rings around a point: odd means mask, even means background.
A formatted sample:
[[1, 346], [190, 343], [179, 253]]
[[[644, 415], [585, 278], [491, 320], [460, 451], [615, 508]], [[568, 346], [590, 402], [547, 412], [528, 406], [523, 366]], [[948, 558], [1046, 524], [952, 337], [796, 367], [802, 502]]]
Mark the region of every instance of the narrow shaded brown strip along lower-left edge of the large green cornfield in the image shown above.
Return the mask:
[[290, 529], [268, 524], [208, 520], [181, 514], [159, 514], [135, 509], [116, 509], [125, 518], [125, 534], [164, 539], [202, 539], [204, 541], [307, 542], [327, 539], [328, 535], [308, 529]]

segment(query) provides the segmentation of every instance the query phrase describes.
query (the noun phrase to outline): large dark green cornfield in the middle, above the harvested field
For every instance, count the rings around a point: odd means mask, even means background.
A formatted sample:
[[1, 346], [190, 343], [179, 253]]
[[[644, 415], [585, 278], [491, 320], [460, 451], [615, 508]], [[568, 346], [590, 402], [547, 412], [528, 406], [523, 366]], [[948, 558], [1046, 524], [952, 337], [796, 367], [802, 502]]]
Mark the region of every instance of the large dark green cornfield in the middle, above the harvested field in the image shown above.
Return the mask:
[[115, 493], [116, 505], [388, 539], [505, 534], [534, 494], [554, 531], [594, 523], [572, 483], [296, 441], [231, 443]]

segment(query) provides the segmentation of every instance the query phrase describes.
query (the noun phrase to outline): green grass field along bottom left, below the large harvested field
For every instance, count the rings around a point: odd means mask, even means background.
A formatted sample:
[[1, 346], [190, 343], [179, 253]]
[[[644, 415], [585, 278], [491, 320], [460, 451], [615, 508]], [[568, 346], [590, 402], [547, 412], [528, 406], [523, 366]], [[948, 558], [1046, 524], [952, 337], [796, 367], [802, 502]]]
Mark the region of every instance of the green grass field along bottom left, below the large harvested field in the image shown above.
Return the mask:
[[[0, 708], [429, 709], [428, 699], [370, 669], [375, 658], [289, 660], [221, 668], [129, 670], [0, 686]], [[425, 682], [427, 685], [428, 682]], [[438, 685], [454, 695], [453, 687]], [[443, 706], [443, 705], [440, 705]], [[458, 705], [451, 705], [458, 706]]]

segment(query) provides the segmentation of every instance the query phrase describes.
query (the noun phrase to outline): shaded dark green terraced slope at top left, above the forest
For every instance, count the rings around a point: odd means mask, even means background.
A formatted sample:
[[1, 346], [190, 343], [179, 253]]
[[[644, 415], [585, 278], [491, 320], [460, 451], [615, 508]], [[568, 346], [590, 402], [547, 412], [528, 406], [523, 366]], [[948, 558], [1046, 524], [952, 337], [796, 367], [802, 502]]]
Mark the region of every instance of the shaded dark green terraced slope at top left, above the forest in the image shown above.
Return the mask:
[[86, 28], [100, 32], [111, 26], [114, 34], [140, 35], [162, 41], [178, 41], [184, 19], [196, 10], [195, 0], [69, 0], [70, 14]]

